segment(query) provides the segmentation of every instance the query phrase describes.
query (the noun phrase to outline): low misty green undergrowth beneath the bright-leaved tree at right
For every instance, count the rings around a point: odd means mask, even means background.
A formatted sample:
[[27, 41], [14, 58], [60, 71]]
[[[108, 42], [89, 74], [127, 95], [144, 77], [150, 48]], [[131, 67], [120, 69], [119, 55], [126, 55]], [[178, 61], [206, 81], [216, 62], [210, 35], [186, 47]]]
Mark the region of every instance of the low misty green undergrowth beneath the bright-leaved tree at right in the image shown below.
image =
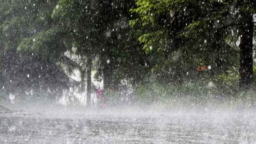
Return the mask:
[[[221, 85], [221, 86], [220, 86]], [[253, 107], [256, 104], [255, 89], [234, 90], [219, 82], [186, 81], [181, 84], [147, 83], [136, 87], [136, 104], [162, 107]]]

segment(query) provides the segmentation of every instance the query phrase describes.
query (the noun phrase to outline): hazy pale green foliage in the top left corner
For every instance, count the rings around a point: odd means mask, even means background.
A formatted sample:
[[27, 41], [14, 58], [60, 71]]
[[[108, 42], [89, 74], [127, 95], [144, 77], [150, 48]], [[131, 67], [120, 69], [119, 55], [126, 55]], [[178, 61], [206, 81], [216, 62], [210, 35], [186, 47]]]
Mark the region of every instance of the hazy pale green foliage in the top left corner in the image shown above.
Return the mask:
[[[3, 48], [2, 53], [5, 55], [8, 52], [16, 52], [23, 39], [31, 39], [38, 32], [48, 29], [51, 24], [50, 12], [55, 3], [56, 1], [1, 0], [0, 47]], [[19, 48], [19, 51], [21, 50]], [[4, 55], [2, 57], [5, 57]]]

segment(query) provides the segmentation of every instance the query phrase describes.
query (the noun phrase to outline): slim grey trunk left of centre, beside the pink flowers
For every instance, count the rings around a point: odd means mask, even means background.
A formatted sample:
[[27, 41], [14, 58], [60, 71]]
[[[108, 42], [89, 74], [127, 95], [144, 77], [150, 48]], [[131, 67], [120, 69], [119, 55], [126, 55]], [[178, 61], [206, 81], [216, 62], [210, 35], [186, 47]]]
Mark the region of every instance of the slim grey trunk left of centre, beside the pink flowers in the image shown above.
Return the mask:
[[91, 71], [92, 71], [92, 58], [90, 55], [87, 56], [87, 66], [86, 66], [86, 69], [87, 69], [87, 90], [86, 90], [86, 93], [87, 93], [87, 96], [86, 96], [86, 105], [87, 107], [90, 107], [91, 106], [91, 89], [92, 89], [92, 80], [91, 80]]

